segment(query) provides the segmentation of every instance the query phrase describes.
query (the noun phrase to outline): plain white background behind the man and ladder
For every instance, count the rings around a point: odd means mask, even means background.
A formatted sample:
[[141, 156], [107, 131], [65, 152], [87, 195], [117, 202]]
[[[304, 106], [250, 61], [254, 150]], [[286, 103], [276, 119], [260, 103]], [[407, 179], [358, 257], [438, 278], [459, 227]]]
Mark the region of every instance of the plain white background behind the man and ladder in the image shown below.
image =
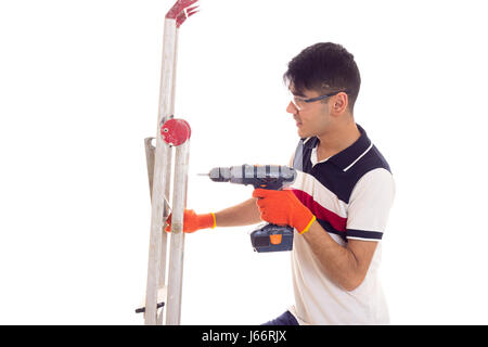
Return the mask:
[[[0, 323], [142, 324], [171, 1], [0, 1]], [[176, 116], [192, 126], [188, 207], [251, 187], [214, 166], [286, 164], [298, 137], [282, 74], [342, 43], [362, 76], [356, 120], [397, 196], [382, 275], [394, 324], [486, 324], [484, 1], [206, 0], [180, 29]], [[293, 303], [290, 254], [253, 227], [188, 235], [183, 324], [258, 324]]]

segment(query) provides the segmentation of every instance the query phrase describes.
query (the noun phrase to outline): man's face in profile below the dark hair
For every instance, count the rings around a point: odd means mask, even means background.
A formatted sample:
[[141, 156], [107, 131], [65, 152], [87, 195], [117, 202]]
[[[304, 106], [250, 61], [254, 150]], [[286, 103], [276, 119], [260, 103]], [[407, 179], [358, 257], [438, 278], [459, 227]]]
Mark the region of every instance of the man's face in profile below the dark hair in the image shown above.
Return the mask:
[[295, 101], [288, 103], [286, 112], [293, 115], [298, 136], [309, 138], [324, 133], [332, 120], [329, 103], [326, 101], [303, 102], [304, 99], [320, 97], [320, 93], [313, 90], [305, 90], [299, 93], [293, 89], [293, 86], [290, 86], [290, 91], [293, 94], [292, 98], [296, 98]]

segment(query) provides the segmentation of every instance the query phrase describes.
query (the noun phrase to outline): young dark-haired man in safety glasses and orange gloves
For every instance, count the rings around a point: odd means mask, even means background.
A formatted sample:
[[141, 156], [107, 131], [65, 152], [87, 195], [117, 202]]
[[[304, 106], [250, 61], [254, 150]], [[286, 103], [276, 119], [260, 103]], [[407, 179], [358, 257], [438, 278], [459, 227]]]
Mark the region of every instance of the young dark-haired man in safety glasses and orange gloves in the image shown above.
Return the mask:
[[388, 324], [377, 271], [395, 182], [354, 118], [361, 83], [354, 56], [317, 43], [290, 62], [284, 79], [300, 137], [291, 162], [297, 179], [216, 214], [187, 210], [184, 231], [261, 220], [295, 228], [295, 305], [266, 324]]

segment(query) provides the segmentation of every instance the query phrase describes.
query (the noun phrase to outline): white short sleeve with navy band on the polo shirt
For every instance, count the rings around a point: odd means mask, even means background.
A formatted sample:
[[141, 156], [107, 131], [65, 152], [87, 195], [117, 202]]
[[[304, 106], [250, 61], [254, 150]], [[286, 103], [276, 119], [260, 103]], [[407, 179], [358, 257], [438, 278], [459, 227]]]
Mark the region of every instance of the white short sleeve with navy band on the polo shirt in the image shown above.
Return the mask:
[[391, 174], [377, 168], [356, 183], [347, 209], [347, 239], [380, 241], [385, 232], [395, 198]]

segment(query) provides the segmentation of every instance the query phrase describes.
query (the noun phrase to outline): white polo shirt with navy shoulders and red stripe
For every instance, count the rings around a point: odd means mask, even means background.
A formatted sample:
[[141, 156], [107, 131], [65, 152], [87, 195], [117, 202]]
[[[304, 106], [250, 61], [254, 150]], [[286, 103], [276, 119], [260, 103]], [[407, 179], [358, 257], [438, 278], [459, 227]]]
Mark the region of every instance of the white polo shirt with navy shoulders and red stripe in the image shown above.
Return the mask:
[[[318, 163], [318, 138], [301, 139], [293, 158], [296, 196], [339, 245], [357, 239], [380, 242], [395, 196], [395, 182], [383, 155], [358, 125], [361, 137], [349, 147]], [[321, 270], [305, 237], [295, 231], [292, 275], [300, 324], [388, 324], [378, 268], [378, 243], [363, 282], [347, 292]]]

